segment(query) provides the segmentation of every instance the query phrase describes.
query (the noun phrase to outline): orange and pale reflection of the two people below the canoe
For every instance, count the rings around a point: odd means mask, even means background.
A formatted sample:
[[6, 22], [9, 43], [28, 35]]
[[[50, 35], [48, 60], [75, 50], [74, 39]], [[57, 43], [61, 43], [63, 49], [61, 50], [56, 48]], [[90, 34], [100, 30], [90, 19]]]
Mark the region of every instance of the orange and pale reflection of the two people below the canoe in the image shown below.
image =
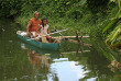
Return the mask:
[[37, 54], [35, 50], [28, 51], [30, 62], [35, 67], [35, 69], [48, 69], [50, 67], [50, 57], [47, 55]]

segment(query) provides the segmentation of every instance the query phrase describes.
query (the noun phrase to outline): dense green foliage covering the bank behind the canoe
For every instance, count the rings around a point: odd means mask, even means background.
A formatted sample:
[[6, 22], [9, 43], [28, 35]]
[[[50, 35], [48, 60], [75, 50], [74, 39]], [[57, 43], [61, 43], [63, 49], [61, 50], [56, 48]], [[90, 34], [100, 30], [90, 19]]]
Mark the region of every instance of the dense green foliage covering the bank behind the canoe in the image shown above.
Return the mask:
[[[89, 1], [89, 0], [8, 0], [1, 1], [0, 16], [15, 16], [15, 21], [21, 23], [26, 30], [26, 24], [33, 12], [40, 12], [40, 19], [48, 18], [48, 24], [54, 27], [69, 28], [66, 35], [74, 35], [78, 32], [81, 35], [102, 36], [101, 31], [108, 19], [113, 15], [107, 11], [111, 5], [107, 5], [107, 1]], [[103, 3], [105, 2], [105, 3]], [[8, 7], [10, 4], [10, 7]], [[102, 5], [101, 5], [102, 4]], [[105, 9], [103, 9], [105, 8]], [[7, 12], [4, 11], [8, 10]], [[91, 11], [95, 9], [94, 11]], [[107, 13], [107, 14], [103, 14]], [[107, 21], [106, 21], [107, 20]], [[70, 33], [72, 32], [72, 33]]]

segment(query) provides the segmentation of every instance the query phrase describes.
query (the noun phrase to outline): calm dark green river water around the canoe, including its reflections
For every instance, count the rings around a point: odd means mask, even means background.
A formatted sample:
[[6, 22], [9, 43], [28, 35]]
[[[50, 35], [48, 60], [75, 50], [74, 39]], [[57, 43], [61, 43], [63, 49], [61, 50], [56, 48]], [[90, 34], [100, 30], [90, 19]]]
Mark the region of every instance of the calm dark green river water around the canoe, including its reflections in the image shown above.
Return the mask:
[[59, 51], [48, 51], [22, 43], [18, 30], [0, 22], [0, 81], [121, 81], [121, 71], [107, 67], [103, 51], [111, 53], [102, 39], [84, 39], [92, 47], [62, 42]]

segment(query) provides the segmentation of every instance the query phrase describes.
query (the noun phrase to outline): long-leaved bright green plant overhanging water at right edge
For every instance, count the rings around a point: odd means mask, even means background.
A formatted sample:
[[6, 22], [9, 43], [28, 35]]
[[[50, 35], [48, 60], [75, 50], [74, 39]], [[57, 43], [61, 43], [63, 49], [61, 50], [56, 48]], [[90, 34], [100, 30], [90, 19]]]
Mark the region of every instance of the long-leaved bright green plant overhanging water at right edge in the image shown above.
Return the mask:
[[120, 33], [121, 33], [121, 1], [120, 0], [110, 0], [110, 2], [116, 2], [118, 4], [118, 12], [114, 18], [111, 19], [111, 22], [103, 28], [102, 33], [106, 33], [109, 30], [112, 30], [108, 35], [106, 43], [109, 42], [112, 44], [118, 44], [120, 42]]

